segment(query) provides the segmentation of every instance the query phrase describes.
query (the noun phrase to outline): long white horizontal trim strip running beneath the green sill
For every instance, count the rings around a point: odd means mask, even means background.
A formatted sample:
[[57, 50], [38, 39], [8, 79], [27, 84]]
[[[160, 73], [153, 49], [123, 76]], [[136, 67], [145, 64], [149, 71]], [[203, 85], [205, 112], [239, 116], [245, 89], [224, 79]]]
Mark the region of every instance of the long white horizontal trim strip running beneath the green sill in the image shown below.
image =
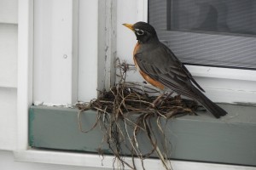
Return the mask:
[[[68, 166], [81, 166], [81, 167], [96, 167], [97, 169], [113, 169], [113, 156], [98, 156], [97, 154], [82, 154], [72, 152], [61, 151], [49, 151], [49, 150], [20, 150], [15, 151], [15, 161], [26, 161], [35, 163], [49, 163]], [[125, 158], [125, 161], [131, 162], [131, 158]], [[137, 167], [141, 165], [141, 162], [136, 159], [135, 164]], [[116, 164], [116, 166], [118, 166]], [[162, 169], [162, 165], [159, 160], [148, 158], [144, 160], [144, 167], [147, 170]], [[216, 163], [204, 163], [195, 161], [172, 161], [172, 168], [176, 170], [190, 169], [207, 169], [207, 170], [255, 170], [256, 167], [245, 167], [235, 165], [225, 165]], [[125, 169], [130, 169], [126, 167]], [[142, 169], [141, 167], [138, 170]]]

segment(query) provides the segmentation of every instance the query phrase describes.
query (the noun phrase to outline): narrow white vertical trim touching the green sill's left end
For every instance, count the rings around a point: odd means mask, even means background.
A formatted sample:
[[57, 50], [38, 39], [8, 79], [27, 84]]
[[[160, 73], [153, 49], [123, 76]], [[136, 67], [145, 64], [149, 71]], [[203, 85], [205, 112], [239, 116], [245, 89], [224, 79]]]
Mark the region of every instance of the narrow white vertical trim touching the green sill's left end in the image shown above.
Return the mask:
[[28, 144], [28, 108], [32, 105], [33, 0], [19, 0], [16, 150]]

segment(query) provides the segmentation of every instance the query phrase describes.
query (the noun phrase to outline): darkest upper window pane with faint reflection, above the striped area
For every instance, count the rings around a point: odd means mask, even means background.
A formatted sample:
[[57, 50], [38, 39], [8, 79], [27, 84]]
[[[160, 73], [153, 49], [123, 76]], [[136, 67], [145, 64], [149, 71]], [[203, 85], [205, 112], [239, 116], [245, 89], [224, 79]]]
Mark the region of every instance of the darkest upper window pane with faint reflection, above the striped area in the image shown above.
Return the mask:
[[255, 0], [172, 0], [171, 11], [174, 30], [256, 34]]

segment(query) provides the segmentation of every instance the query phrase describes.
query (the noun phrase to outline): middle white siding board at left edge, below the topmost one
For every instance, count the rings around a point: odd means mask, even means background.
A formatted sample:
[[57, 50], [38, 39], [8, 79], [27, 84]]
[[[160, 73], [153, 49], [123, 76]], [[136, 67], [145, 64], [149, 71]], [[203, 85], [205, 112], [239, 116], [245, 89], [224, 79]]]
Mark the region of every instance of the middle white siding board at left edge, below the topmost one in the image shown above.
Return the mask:
[[0, 24], [0, 87], [17, 86], [17, 28], [17, 25]]

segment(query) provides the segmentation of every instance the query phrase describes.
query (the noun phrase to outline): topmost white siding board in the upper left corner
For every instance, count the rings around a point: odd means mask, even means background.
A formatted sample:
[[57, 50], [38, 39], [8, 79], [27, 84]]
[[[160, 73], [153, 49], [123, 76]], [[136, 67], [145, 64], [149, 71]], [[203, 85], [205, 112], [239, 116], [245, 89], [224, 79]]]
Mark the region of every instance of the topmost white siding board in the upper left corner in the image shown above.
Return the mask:
[[18, 23], [18, 0], [0, 0], [0, 23]]

